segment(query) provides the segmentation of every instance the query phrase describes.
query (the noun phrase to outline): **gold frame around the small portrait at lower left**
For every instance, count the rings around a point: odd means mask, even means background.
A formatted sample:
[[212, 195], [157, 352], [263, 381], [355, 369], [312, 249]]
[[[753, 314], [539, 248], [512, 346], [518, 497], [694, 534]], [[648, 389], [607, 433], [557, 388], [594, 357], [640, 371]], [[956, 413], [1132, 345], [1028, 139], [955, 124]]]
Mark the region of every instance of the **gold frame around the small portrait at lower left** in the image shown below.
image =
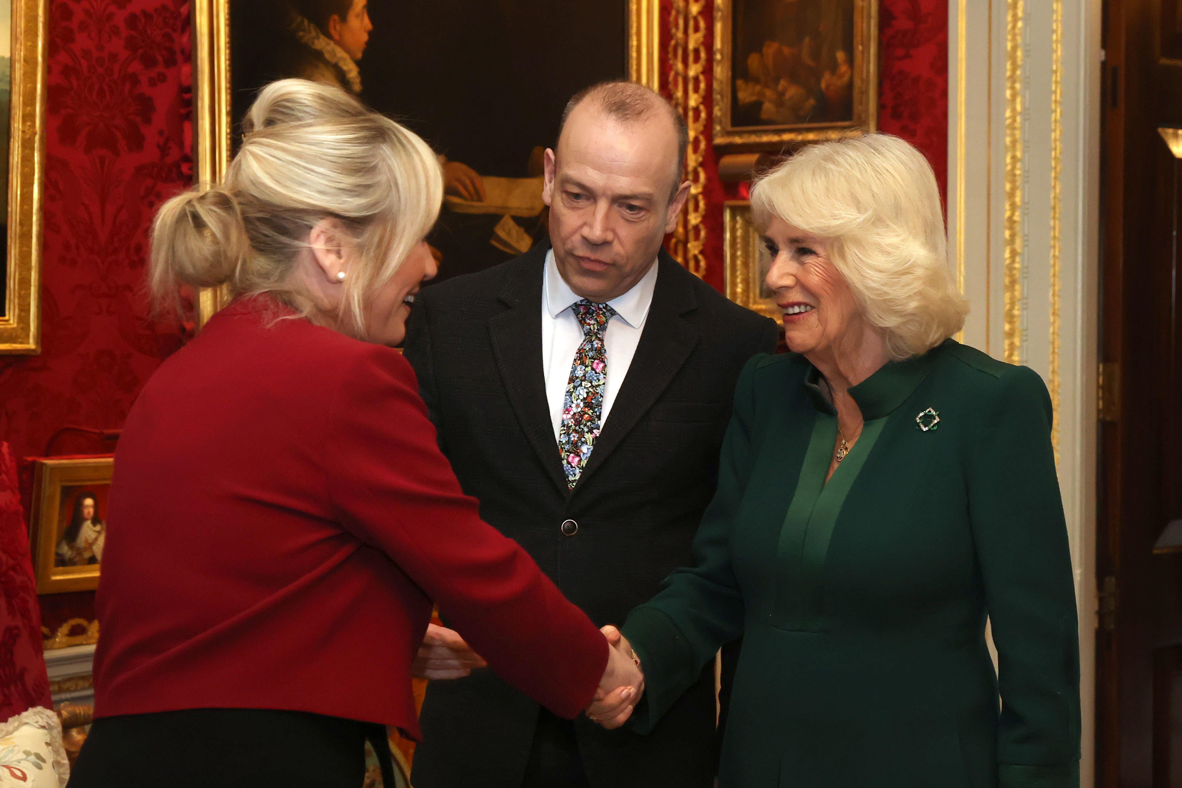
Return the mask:
[[57, 547], [57, 523], [61, 506], [61, 488], [66, 484], [110, 484], [115, 457], [84, 460], [39, 460], [34, 463], [33, 507], [28, 519], [35, 533], [33, 571], [38, 594], [67, 591], [93, 591], [98, 587], [99, 564], [90, 566], [53, 566]]

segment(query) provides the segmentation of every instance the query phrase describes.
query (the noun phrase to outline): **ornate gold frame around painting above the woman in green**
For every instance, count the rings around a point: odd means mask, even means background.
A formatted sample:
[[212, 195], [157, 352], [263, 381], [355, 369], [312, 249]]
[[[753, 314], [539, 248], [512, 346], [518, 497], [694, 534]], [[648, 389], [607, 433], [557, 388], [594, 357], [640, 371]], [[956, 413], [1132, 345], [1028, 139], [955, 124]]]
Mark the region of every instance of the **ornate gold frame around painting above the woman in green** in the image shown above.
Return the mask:
[[730, 125], [730, 34], [734, 0], [714, 2], [714, 144], [778, 150], [787, 144], [873, 131], [878, 123], [878, 0], [853, 0], [853, 121], [784, 126]]

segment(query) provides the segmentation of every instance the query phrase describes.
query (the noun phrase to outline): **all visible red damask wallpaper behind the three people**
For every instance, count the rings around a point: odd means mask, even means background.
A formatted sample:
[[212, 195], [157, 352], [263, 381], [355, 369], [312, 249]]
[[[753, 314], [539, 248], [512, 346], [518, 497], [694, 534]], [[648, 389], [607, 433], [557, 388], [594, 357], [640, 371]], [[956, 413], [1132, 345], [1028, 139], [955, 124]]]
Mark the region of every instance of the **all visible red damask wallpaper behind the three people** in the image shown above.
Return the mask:
[[[671, 0], [662, 5], [668, 41]], [[881, 0], [881, 8], [879, 128], [923, 150], [943, 188], [947, 4]], [[43, 352], [0, 356], [0, 439], [18, 458], [111, 451], [96, 431], [122, 426], [188, 331], [150, 320], [143, 298], [152, 211], [193, 177], [188, 2], [51, 0], [50, 14]], [[713, 19], [710, 0], [701, 14]], [[709, 52], [713, 24], [703, 31]], [[708, 137], [709, 63], [704, 71]], [[721, 204], [738, 191], [719, 182], [708, 144], [704, 168], [706, 279], [721, 288]], [[85, 430], [63, 431], [70, 426]], [[41, 605], [51, 627], [92, 614], [90, 594]]]

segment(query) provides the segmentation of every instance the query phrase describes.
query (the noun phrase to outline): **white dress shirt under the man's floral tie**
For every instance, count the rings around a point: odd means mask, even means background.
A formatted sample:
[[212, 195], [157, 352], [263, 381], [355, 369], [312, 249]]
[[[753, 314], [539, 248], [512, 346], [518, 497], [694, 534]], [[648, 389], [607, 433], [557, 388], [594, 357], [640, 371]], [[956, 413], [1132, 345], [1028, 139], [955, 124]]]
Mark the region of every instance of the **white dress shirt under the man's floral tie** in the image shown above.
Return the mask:
[[[644, 321], [648, 320], [649, 306], [652, 304], [652, 291], [657, 285], [657, 267], [654, 261], [652, 267], [632, 289], [608, 301], [616, 314], [608, 321], [603, 337], [604, 351], [608, 353], [608, 380], [603, 386], [600, 429], [608, 423], [608, 412], [616, 402], [628, 367], [632, 365], [636, 346], [641, 343]], [[551, 249], [546, 254], [546, 269], [541, 281], [541, 362], [546, 375], [546, 403], [550, 405], [556, 441], [563, 422], [563, 398], [571, 378], [571, 365], [574, 364], [574, 353], [583, 344], [583, 326], [571, 310], [571, 305], [580, 300], [583, 297], [572, 291], [558, 273], [554, 250]]]

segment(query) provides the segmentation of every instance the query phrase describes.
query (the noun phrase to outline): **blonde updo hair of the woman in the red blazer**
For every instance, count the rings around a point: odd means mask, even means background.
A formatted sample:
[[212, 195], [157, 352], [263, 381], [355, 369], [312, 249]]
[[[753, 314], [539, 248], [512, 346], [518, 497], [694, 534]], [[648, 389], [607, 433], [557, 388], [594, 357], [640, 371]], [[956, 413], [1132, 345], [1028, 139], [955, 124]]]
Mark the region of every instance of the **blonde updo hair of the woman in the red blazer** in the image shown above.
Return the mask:
[[174, 306], [181, 285], [271, 293], [316, 312], [299, 253], [325, 219], [352, 252], [338, 330], [365, 337], [364, 306], [439, 216], [443, 178], [417, 135], [332, 85], [284, 79], [262, 89], [242, 122], [242, 145], [222, 182], [165, 202], [151, 234], [152, 295]]

